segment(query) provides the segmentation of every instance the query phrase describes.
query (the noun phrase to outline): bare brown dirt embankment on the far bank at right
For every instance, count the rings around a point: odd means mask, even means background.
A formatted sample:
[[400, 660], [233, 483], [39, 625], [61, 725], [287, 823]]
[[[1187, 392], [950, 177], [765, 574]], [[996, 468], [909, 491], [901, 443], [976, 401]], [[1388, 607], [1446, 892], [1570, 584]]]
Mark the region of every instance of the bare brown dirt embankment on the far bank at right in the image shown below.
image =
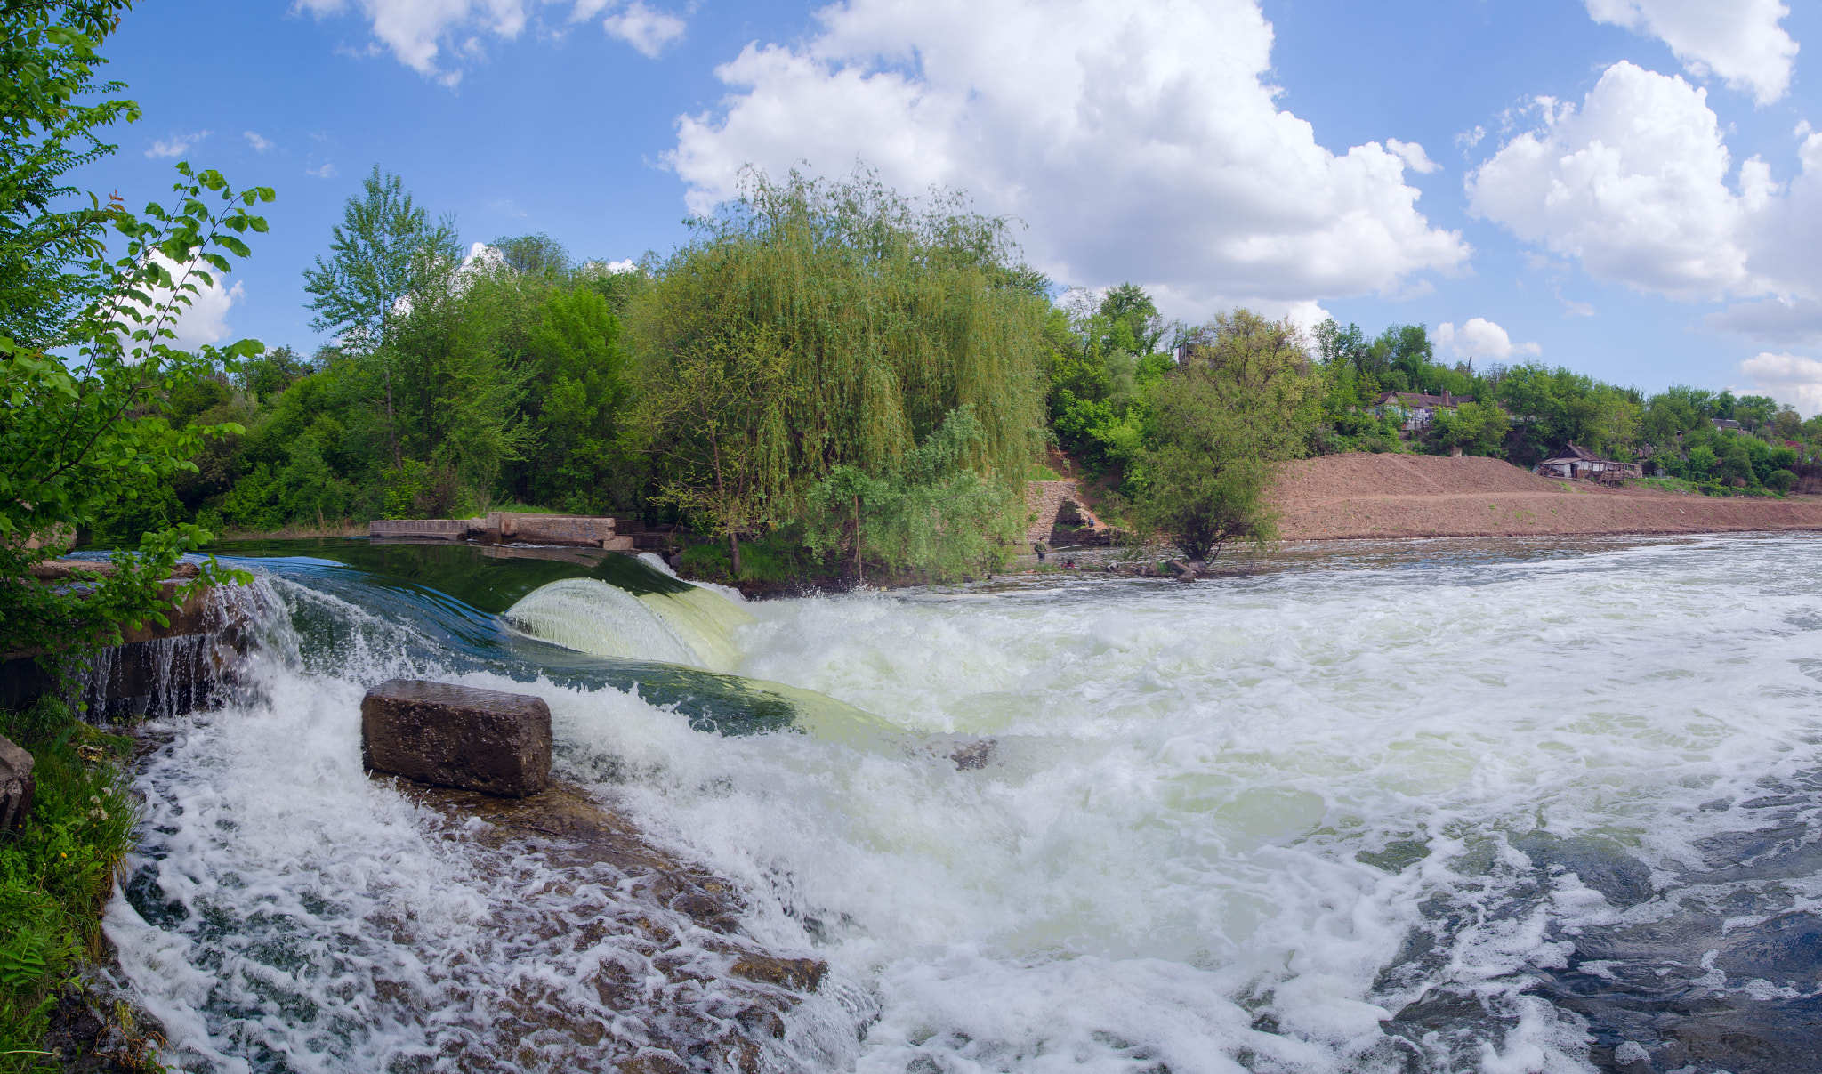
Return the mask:
[[1540, 478], [1485, 458], [1299, 460], [1274, 491], [1285, 540], [1822, 531], [1822, 496], [1720, 498]]

